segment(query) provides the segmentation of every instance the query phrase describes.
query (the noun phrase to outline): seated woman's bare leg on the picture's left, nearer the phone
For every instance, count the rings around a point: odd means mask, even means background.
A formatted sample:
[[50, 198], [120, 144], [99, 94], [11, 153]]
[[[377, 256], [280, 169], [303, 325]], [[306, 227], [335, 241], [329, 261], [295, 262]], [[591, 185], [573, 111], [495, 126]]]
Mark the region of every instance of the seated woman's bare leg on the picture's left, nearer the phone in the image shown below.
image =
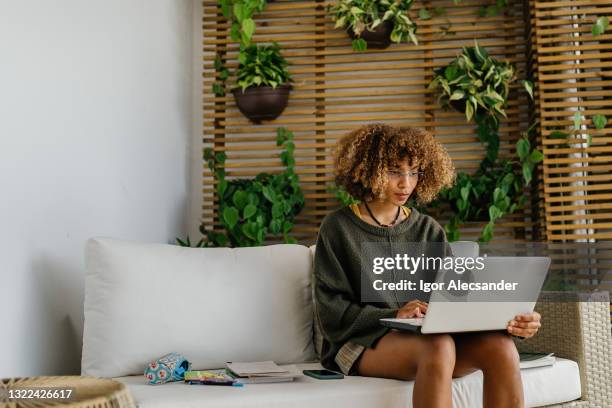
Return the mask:
[[447, 334], [392, 331], [357, 361], [363, 376], [416, 380], [412, 394], [415, 408], [451, 407], [455, 343]]

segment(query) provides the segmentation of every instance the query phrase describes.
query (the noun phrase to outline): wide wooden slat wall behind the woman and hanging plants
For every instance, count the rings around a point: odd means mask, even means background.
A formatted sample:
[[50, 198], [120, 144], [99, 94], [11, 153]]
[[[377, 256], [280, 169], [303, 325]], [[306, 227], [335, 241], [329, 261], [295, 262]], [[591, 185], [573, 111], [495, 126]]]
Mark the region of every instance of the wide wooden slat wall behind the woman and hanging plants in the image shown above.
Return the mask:
[[[229, 39], [229, 26], [214, 0], [204, 1], [204, 143], [228, 155], [228, 177], [252, 177], [261, 171], [279, 171], [279, 150], [275, 130], [286, 126], [296, 135], [296, 169], [306, 196], [306, 207], [296, 220], [294, 236], [301, 243], [316, 238], [325, 214], [338, 207], [326, 191], [333, 180], [330, 149], [336, 140], [355, 127], [370, 122], [420, 126], [428, 129], [448, 149], [458, 170], [473, 172], [484, 155], [474, 126], [456, 112], [444, 112], [426, 89], [433, 69], [444, 66], [464, 45], [474, 39], [500, 59], [528, 70], [530, 50], [526, 46], [522, 2], [511, 2], [503, 15], [477, 16], [482, 1], [416, 2], [421, 7], [442, 6], [444, 17], [421, 21], [420, 44], [393, 44], [386, 50], [365, 53], [352, 51], [346, 33], [335, 30], [326, 15], [324, 1], [275, 1], [256, 17], [256, 42], [277, 41], [290, 63], [296, 81], [290, 103], [273, 122], [253, 125], [236, 109], [233, 96], [215, 97], [210, 88], [215, 80], [213, 60], [218, 53], [226, 66], [236, 67], [238, 46]], [[448, 32], [441, 28], [450, 26]], [[228, 81], [231, 83], [232, 78]], [[501, 125], [502, 156], [514, 154], [514, 144], [533, 116], [533, 108], [516, 85], [510, 97], [509, 119]], [[203, 166], [202, 222], [207, 228], [220, 226], [216, 219], [214, 181]], [[538, 213], [538, 201], [534, 199]], [[447, 212], [436, 214], [443, 223]], [[534, 239], [531, 208], [501, 220], [496, 241]], [[470, 224], [462, 230], [463, 239], [476, 239], [483, 224]]]

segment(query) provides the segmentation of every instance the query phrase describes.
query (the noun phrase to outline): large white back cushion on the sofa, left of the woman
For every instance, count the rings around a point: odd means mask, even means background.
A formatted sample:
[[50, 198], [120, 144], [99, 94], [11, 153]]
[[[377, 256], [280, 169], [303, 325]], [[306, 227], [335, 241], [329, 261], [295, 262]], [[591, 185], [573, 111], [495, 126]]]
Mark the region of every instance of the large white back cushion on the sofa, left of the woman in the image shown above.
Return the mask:
[[315, 359], [305, 246], [203, 249], [91, 239], [86, 267], [85, 375], [142, 374], [169, 352], [198, 368]]

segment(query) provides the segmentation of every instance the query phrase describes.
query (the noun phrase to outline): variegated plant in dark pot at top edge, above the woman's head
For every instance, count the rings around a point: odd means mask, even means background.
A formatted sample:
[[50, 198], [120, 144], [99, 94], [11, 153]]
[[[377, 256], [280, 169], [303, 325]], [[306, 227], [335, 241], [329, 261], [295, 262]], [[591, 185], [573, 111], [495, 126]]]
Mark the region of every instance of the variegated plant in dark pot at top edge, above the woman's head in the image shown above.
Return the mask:
[[417, 44], [416, 24], [408, 16], [412, 0], [338, 0], [328, 6], [335, 28], [347, 30], [353, 49], [384, 49], [391, 42]]

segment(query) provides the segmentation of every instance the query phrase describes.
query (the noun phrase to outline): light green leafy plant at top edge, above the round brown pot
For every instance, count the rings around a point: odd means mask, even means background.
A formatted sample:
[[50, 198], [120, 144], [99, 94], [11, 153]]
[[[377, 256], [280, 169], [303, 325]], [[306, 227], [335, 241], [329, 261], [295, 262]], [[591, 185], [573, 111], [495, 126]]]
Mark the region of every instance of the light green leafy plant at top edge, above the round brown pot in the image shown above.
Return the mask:
[[221, 12], [231, 22], [230, 35], [233, 41], [247, 47], [251, 44], [255, 32], [253, 15], [261, 13], [266, 7], [266, 0], [218, 0]]

